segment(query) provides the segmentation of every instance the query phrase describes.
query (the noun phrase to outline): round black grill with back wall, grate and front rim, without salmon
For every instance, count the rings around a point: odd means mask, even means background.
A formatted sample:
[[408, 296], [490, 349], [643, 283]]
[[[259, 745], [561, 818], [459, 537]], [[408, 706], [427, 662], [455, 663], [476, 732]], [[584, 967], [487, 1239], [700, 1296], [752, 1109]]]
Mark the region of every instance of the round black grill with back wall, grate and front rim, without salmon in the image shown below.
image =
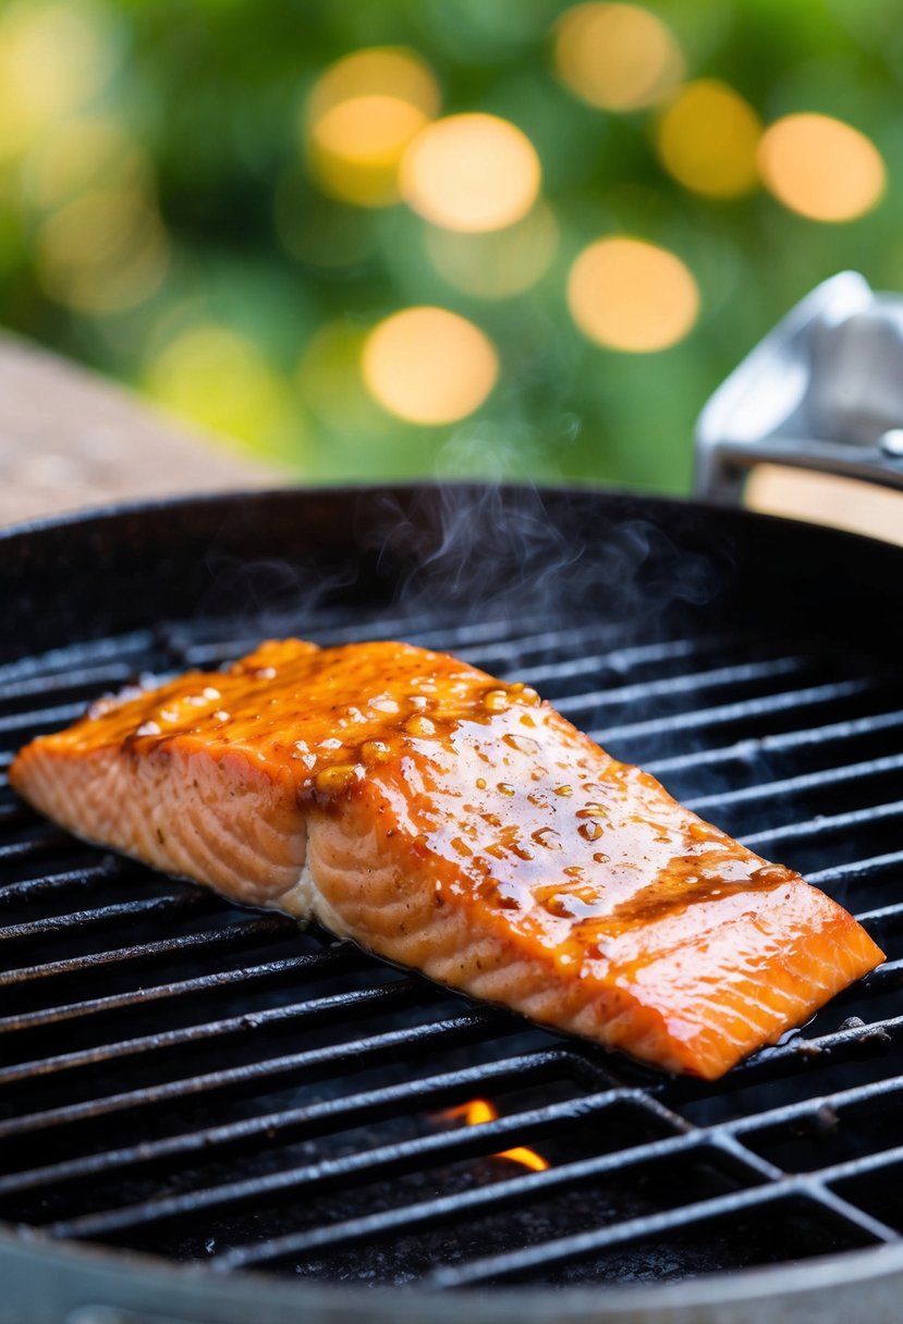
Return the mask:
[[[160, 1308], [148, 1282], [191, 1262], [195, 1312], [238, 1309], [254, 1270], [260, 1320], [375, 1319], [379, 1287], [416, 1287], [387, 1308], [417, 1319], [470, 1288], [478, 1319], [532, 1317], [508, 1288], [583, 1319], [588, 1287], [600, 1317], [625, 1284], [640, 1301], [636, 1284], [825, 1255], [813, 1274], [899, 1271], [896, 552], [689, 503], [426, 487], [147, 507], [7, 536], [3, 556], [0, 769], [142, 674], [273, 634], [404, 638], [535, 686], [888, 953], [722, 1082], [670, 1079], [79, 843], [4, 781], [13, 1298], [124, 1304], [131, 1283], [127, 1304]], [[463, 1124], [474, 1098], [498, 1117]]]

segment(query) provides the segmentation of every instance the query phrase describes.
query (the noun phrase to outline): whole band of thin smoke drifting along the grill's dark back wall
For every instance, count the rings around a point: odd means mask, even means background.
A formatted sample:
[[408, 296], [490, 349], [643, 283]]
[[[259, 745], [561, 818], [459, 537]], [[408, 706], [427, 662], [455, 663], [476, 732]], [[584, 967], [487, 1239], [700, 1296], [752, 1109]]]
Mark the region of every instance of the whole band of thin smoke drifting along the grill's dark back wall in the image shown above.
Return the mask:
[[540, 636], [531, 659], [542, 663], [706, 630], [726, 583], [711, 542], [692, 507], [589, 489], [445, 482], [286, 493], [263, 507], [249, 498], [208, 544], [192, 618], [164, 633], [187, 665], [230, 661], [265, 637], [418, 642], [436, 629], [450, 651]]

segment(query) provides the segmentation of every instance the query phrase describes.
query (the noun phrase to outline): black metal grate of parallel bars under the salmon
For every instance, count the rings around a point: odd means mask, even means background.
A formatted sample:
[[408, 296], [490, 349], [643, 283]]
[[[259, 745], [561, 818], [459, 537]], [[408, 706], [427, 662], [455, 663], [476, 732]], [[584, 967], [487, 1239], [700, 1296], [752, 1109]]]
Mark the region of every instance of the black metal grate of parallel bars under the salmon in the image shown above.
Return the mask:
[[[297, 621], [283, 622], [286, 632]], [[201, 622], [0, 667], [0, 768]], [[477, 1006], [114, 859], [0, 789], [0, 1218], [307, 1279], [681, 1278], [903, 1235], [903, 692], [854, 653], [736, 633], [320, 612], [535, 685], [612, 753], [854, 910], [884, 967], [715, 1084]], [[497, 1120], [449, 1110], [490, 1098]], [[527, 1170], [506, 1151], [547, 1162]]]

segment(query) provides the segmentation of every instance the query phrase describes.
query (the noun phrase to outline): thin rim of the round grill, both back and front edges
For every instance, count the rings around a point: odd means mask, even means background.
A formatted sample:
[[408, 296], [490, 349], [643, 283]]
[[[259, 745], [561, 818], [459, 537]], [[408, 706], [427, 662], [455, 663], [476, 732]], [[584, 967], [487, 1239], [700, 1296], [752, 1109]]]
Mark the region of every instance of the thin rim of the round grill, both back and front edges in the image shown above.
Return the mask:
[[[354, 494], [372, 494], [384, 491], [391, 494], [413, 495], [420, 491], [436, 493], [440, 489], [452, 489], [459, 493], [483, 490], [487, 485], [478, 482], [455, 483], [409, 483], [409, 485], [335, 485], [323, 487], [278, 487], [261, 493], [248, 494], [246, 499], [253, 503], [266, 503], [267, 500], [291, 500], [306, 496], [322, 496], [326, 499], [347, 499]], [[671, 510], [674, 512], [695, 514], [698, 518], [707, 518], [715, 512], [728, 527], [740, 523], [755, 523], [759, 526], [771, 524], [775, 527], [793, 526], [798, 530], [798, 536], [804, 540], [816, 542], [826, 538], [832, 547], [863, 547], [878, 548], [884, 561], [886, 573], [892, 572], [894, 557], [903, 557], [903, 548], [894, 544], [882, 543], [861, 534], [824, 528], [801, 520], [788, 520], [783, 516], [764, 515], [744, 510], [724, 511], [723, 507], [710, 500], [685, 500], [682, 498], [658, 496], [646, 493], [612, 491], [596, 485], [544, 485], [542, 487], [526, 485], [504, 485], [508, 493], [518, 490], [551, 494], [552, 496], [568, 498], [602, 496], [625, 500], [628, 504], [642, 508], [645, 504], [658, 510]], [[159, 498], [152, 500], [130, 502], [123, 504], [105, 504], [90, 510], [70, 511], [45, 519], [29, 520], [21, 524], [0, 530], [0, 553], [15, 545], [15, 540], [23, 540], [23, 545], [30, 545], [30, 540], [41, 535], [65, 531], [73, 527], [95, 524], [101, 528], [111, 528], [115, 522], [132, 518], [158, 520], [172, 512], [173, 508], [188, 511], [203, 507], [209, 511], [226, 506], [236, 508], [241, 500], [234, 493], [189, 494], [177, 498]], [[824, 544], [822, 544], [824, 545]], [[902, 563], [903, 564], [903, 563]], [[151, 621], [152, 629], [156, 622]], [[28, 654], [23, 654], [28, 657]], [[258, 1271], [240, 1270], [226, 1278], [222, 1274], [205, 1266], [184, 1266], [167, 1260], [162, 1256], [117, 1250], [95, 1245], [78, 1242], [50, 1241], [41, 1231], [33, 1229], [17, 1230], [9, 1223], [0, 1223], [0, 1264], [4, 1268], [16, 1267], [21, 1271], [23, 1260], [32, 1263], [32, 1272], [26, 1278], [37, 1280], [45, 1276], [48, 1284], [58, 1296], [61, 1311], [71, 1311], [79, 1305], [98, 1304], [98, 1290], [102, 1282], [107, 1283], [114, 1296], [105, 1300], [105, 1304], [120, 1304], [139, 1309], [172, 1309], [191, 1308], [192, 1312], [201, 1311], [197, 1319], [207, 1317], [204, 1312], [211, 1308], [217, 1309], [217, 1319], [228, 1320], [246, 1317], [249, 1305], [260, 1308], [265, 1305], [266, 1316], [261, 1320], [282, 1320], [295, 1317], [301, 1309], [311, 1311], [311, 1319], [322, 1319], [335, 1324], [351, 1324], [351, 1321], [397, 1319], [400, 1300], [409, 1307], [412, 1317], [416, 1316], [417, 1307], [422, 1308], [422, 1319], [436, 1320], [436, 1324], [450, 1324], [454, 1312], [455, 1324], [459, 1324], [461, 1301], [466, 1300], [475, 1324], [483, 1320], [493, 1320], [495, 1324], [511, 1324], [514, 1321], [547, 1321], [552, 1319], [565, 1319], [579, 1321], [583, 1319], [604, 1319], [633, 1321], [645, 1319], [649, 1312], [654, 1312], [657, 1319], [674, 1320], [675, 1324], [692, 1321], [715, 1320], [722, 1317], [726, 1307], [732, 1309], [752, 1309], [745, 1313], [732, 1315], [732, 1319], [759, 1320], [761, 1307], [765, 1304], [792, 1305], [800, 1299], [814, 1313], [821, 1309], [833, 1309], [842, 1316], [847, 1301], [838, 1296], [838, 1292], [849, 1290], [862, 1294], [863, 1287], [869, 1288], [869, 1295], [855, 1296], [855, 1308], [867, 1308], [870, 1317], [895, 1319], [900, 1279], [903, 1278], [903, 1242], [871, 1246], [861, 1250], [847, 1250], [830, 1255], [816, 1256], [804, 1263], [785, 1263], [767, 1267], [745, 1267], [727, 1272], [715, 1272], [704, 1278], [683, 1279], [674, 1283], [659, 1283], [653, 1287], [646, 1284], [598, 1284], [592, 1288], [567, 1287], [548, 1290], [543, 1287], [499, 1287], [489, 1291], [483, 1288], [470, 1288], [465, 1298], [458, 1292], [441, 1294], [424, 1291], [422, 1288], [354, 1288], [331, 1283], [299, 1283], [286, 1284], [273, 1275]], [[4, 1272], [4, 1276], [7, 1274]], [[167, 1295], [155, 1301], [156, 1290], [163, 1287]], [[127, 1292], [127, 1295], [122, 1295]], [[175, 1294], [175, 1295], [172, 1295]], [[64, 1300], [65, 1296], [65, 1300]], [[115, 1298], [115, 1300], [114, 1300]], [[850, 1299], [851, 1304], [853, 1299]], [[222, 1308], [234, 1304], [234, 1312], [221, 1315]], [[275, 1313], [270, 1313], [270, 1307]], [[285, 1313], [289, 1312], [289, 1313]], [[814, 1317], [813, 1313], [813, 1317]], [[48, 1316], [57, 1317], [56, 1315]]]

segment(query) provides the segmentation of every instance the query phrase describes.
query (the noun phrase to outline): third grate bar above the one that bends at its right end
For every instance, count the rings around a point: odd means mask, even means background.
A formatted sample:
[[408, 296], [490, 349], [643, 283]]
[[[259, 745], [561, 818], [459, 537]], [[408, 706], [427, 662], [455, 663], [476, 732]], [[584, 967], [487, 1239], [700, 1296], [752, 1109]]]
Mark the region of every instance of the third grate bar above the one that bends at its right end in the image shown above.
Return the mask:
[[285, 974], [334, 974], [359, 964], [359, 953], [348, 944], [326, 952], [286, 956], [281, 961], [266, 961], [262, 965], [245, 965], [236, 970], [213, 970], [196, 978], [179, 980], [171, 984], [143, 985], [128, 993], [110, 993], [106, 997], [87, 998], [82, 1002], [68, 1002], [61, 1006], [44, 1008], [40, 1012], [26, 1012], [23, 1016], [0, 1017], [0, 1034], [19, 1030], [33, 1030], [62, 1021], [82, 1019], [105, 1012], [120, 1012], [130, 1006], [144, 1006], [166, 998], [195, 997], [211, 989], [229, 989], [234, 984], [253, 985], [260, 981]]

